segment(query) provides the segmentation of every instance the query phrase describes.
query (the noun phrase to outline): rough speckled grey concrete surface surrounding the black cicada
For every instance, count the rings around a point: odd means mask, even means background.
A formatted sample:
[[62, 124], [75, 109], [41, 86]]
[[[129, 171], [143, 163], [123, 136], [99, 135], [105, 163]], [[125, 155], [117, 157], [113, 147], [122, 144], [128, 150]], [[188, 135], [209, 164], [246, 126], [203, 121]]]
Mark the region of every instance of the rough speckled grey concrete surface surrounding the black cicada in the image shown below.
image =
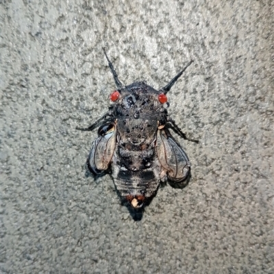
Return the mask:
[[[208, 2], [208, 3], [207, 3]], [[1, 1], [1, 273], [274, 273], [271, 1]], [[197, 145], [134, 221], [85, 176], [115, 85], [165, 85]], [[272, 77], [272, 78], [271, 78]]]

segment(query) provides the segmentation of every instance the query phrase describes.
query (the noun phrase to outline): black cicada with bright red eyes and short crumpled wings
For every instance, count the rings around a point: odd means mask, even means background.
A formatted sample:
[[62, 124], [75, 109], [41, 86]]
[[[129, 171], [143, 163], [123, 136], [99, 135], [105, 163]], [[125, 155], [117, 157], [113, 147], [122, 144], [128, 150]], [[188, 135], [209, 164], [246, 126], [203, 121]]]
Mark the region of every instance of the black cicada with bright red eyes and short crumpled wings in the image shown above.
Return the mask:
[[[188, 139], [169, 117], [166, 93], [192, 64], [190, 61], [166, 86], [155, 90], [145, 81], [123, 85], [108, 55], [116, 90], [109, 111], [88, 128], [99, 126], [86, 166], [92, 174], [112, 174], [116, 190], [132, 208], [148, 204], [161, 182], [183, 184], [190, 178], [190, 161], [169, 128]], [[195, 141], [188, 139], [190, 141]], [[197, 142], [197, 141], [196, 141]]]

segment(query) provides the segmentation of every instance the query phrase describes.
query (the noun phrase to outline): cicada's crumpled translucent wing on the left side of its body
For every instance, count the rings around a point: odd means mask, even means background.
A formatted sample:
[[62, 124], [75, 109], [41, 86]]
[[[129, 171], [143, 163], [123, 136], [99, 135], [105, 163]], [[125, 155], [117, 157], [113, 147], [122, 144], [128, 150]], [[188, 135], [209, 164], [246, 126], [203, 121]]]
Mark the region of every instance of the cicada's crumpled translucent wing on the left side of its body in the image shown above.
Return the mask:
[[104, 124], [98, 130], [99, 137], [92, 143], [87, 165], [93, 174], [108, 169], [116, 146], [115, 124]]

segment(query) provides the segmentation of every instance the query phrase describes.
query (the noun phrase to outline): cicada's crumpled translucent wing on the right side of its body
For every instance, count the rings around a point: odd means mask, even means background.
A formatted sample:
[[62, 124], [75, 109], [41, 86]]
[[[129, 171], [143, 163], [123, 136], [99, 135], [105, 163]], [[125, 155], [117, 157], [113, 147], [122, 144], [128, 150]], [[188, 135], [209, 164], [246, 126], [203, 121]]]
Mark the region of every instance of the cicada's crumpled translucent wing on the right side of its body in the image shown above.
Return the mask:
[[182, 182], [190, 174], [190, 161], [186, 152], [177, 145], [166, 128], [157, 132], [156, 150], [158, 159], [166, 169], [168, 178], [173, 182]]

